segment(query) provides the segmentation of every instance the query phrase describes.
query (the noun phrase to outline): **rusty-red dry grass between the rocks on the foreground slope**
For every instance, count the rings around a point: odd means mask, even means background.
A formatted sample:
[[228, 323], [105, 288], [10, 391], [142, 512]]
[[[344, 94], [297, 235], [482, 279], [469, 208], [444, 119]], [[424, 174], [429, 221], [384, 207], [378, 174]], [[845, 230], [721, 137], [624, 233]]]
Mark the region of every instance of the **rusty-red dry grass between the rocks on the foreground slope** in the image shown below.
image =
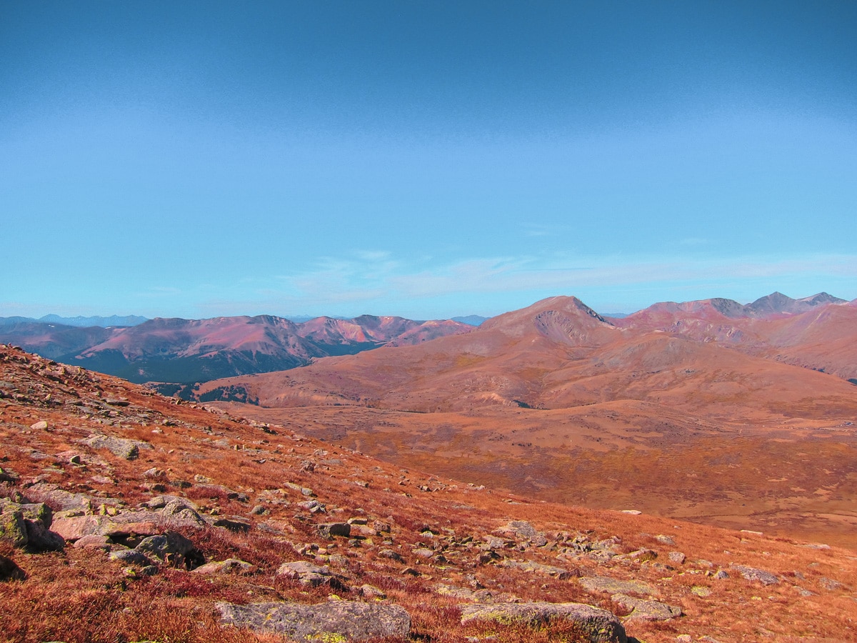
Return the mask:
[[[204, 506], [203, 512], [238, 514], [252, 522], [248, 533], [213, 528], [185, 531], [206, 559], [240, 558], [259, 570], [248, 576], [202, 576], [161, 568], [151, 577], [129, 576], [122, 565], [108, 562], [98, 552], [69, 547], [63, 553], [35, 555], [0, 544], [0, 554], [11, 555], [29, 575], [24, 582], [0, 583], [0, 640], [265, 640], [259, 635], [221, 628], [215, 619], [214, 603], [287, 600], [311, 604], [334, 597], [371, 600], [357, 592], [363, 583], [380, 588], [387, 594], [387, 601], [411, 613], [411, 640], [415, 641], [464, 643], [468, 636], [496, 636], [496, 640], [508, 643], [573, 641], [578, 635], [573, 628], [555, 622], [535, 629], [461, 626], [459, 613], [466, 601], [438, 592], [441, 584], [482, 587], [522, 600], [584, 602], [622, 613], [607, 594], [587, 592], [575, 577], [557, 580], [503, 567], [500, 562], [504, 558], [560, 566], [585, 576], [607, 575], [650, 583], [663, 601], [679, 605], [686, 616], [662, 623], [627, 622], [628, 633], [646, 643], [674, 641], [678, 634], [691, 634], [694, 639], [710, 635], [722, 641], [764, 640], [769, 634], [776, 640], [801, 636], [808, 640], [857, 638], [854, 623], [849, 620], [853, 618], [857, 588], [857, 555], [852, 550], [808, 549], [790, 538], [757, 536], [645, 514], [633, 516], [538, 502], [532, 496], [500, 490], [477, 490], [419, 469], [409, 467], [403, 471], [347, 448], [295, 435], [295, 430], [309, 433], [315, 422], [333, 415], [313, 419], [296, 413], [290, 420], [292, 426], [273, 427], [278, 433], [273, 436], [259, 426], [236, 422], [201, 407], [176, 405], [111, 378], [102, 378], [99, 386], [105, 396], [122, 396], [133, 405], [111, 418], [115, 424], [99, 424], [99, 418], [82, 418], [63, 408], [0, 400], [0, 466], [17, 472], [21, 483], [45, 476], [64, 489], [103, 493], [129, 505], [156, 495], [147, 486], [153, 480], [144, 472], [157, 467], [165, 472], [165, 478], [159, 480], [169, 493], [195, 498]], [[152, 412], [145, 425], [136, 418], [143, 408]], [[356, 416], [349, 413], [351, 410], [340, 409], [336, 421], [346, 424], [349, 418], [365, 418], [362, 411]], [[388, 413], [383, 418], [399, 421]], [[30, 424], [39, 419], [48, 421], [51, 430], [29, 430]], [[154, 449], [141, 451], [140, 459], [129, 461], [77, 442], [99, 429], [146, 440]], [[368, 429], [366, 434], [369, 435]], [[219, 442], [224, 439], [228, 443]], [[30, 450], [33, 448], [49, 457], [34, 459]], [[55, 457], [68, 450], [81, 454], [83, 464], [69, 466]], [[847, 454], [848, 449], [842, 453]], [[314, 471], [302, 470], [308, 460], [315, 463]], [[627, 466], [633, 459], [625, 456], [622, 462]], [[199, 490], [196, 475], [246, 494], [249, 502]], [[93, 480], [94, 476], [105, 476], [111, 482]], [[177, 486], [180, 481], [191, 486]], [[358, 486], [356, 482], [368, 486]], [[299, 508], [298, 503], [306, 496], [286, 487], [286, 483], [312, 489], [317, 500], [327, 506], [327, 513], [309, 514]], [[7, 484], [0, 493], [14, 495], [16, 490], [26, 491], [21, 484], [14, 489]], [[255, 504], [265, 508], [267, 514], [249, 514]], [[369, 525], [375, 521], [387, 523], [391, 531], [349, 543], [344, 538], [321, 538], [315, 528], [319, 522], [352, 517], [365, 518]], [[545, 548], [500, 550], [499, 560], [479, 564], [478, 548], [465, 541], [482, 541], [508, 520], [529, 520], [547, 534], [552, 544]], [[261, 525], [273, 531], [264, 531]], [[429, 536], [424, 532], [426, 526], [435, 533]], [[645, 547], [656, 550], [658, 556], [650, 562], [558, 559], [561, 532], [572, 536], [584, 533], [590, 540], [616, 536], [625, 552]], [[658, 535], [670, 536], [675, 544], [662, 544], [655, 538]], [[387, 539], [389, 543], [384, 542]], [[417, 546], [435, 550], [446, 562], [428, 562], [415, 556], [412, 550]], [[380, 556], [384, 549], [399, 552], [405, 561]], [[673, 565], [672, 569], [665, 567], [671, 550], [684, 552], [687, 562]], [[332, 555], [341, 558], [327, 558]], [[342, 576], [345, 588], [309, 589], [275, 575], [282, 562], [293, 560], [330, 564]], [[743, 580], [734, 571], [725, 580], [706, 575], [721, 568], [728, 570], [732, 563], [764, 568], [783, 580], [777, 586], [764, 587]], [[406, 568], [416, 570], [418, 575], [405, 574]], [[836, 580], [842, 587], [827, 589], [824, 579]], [[801, 596], [796, 587], [813, 595]], [[695, 593], [698, 588], [710, 593], [700, 596]]]

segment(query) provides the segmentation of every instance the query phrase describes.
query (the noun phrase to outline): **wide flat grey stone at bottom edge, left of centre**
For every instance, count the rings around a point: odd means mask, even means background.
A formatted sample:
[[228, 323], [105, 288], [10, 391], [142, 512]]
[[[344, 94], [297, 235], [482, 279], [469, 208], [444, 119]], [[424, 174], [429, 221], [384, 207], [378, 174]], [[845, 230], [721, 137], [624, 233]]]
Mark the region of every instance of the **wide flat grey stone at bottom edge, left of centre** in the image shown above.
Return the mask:
[[297, 603], [218, 603], [220, 622], [262, 634], [295, 640], [361, 641], [381, 637], [407, 639], [411, 616], [398, 605], [333, 601]]

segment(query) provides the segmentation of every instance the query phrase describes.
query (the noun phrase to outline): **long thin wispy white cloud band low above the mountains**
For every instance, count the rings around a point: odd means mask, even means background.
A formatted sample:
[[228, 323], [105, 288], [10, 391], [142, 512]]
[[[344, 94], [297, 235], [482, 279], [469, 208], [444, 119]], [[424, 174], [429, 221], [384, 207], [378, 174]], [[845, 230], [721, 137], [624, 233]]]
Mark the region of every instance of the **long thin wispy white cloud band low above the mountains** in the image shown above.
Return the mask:
[[[327, 258], [315, 270], [285, 276], [298, 297], [324, 297], [331, 302], [366, 297], [428, 298], [455, 293], [518, 292], [629, 285], [704, 283], [708, 279], [776, 279], [793, 275], [830, 274], [857, 277], [857, 256], [808, 255], [793, 259], [650, 260], [622, 256], [506, 256], [474, 258], [433, 266], [405, 260], [365, 261], [361, 257]], [[321, 294], [323, 293], [323, 294]]]

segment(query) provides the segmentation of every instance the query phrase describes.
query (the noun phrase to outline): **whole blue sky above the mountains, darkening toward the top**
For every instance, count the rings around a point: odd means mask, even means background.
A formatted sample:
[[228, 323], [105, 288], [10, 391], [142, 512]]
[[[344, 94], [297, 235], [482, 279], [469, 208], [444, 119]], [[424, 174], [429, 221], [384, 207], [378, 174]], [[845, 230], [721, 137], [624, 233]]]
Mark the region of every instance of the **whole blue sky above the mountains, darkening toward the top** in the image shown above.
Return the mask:
[[0, 315], [857, 297], [857, 3], [0, 3]]

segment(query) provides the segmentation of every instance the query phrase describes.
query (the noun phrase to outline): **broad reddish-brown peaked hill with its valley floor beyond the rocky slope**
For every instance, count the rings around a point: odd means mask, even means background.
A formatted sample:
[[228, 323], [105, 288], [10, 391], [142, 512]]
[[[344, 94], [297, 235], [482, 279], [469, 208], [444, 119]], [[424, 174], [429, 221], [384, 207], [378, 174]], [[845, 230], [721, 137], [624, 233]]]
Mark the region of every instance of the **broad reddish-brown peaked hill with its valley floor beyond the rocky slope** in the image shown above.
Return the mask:
[[[713, 324], [704, 333], [726, 323], [708, 303], [687, 308]], [[776, 323], [840, 309], [850, 307]], [[710, 524], [850, 538], [857, 388], [729, 346], [622, 328], [554, 297], [470, 334], [208, 382], [199, 393], [243, 395], [259, 404], [236, 411], [247, 417], [301, 418], [350, 448], [545, 500], [635, 502]]]

